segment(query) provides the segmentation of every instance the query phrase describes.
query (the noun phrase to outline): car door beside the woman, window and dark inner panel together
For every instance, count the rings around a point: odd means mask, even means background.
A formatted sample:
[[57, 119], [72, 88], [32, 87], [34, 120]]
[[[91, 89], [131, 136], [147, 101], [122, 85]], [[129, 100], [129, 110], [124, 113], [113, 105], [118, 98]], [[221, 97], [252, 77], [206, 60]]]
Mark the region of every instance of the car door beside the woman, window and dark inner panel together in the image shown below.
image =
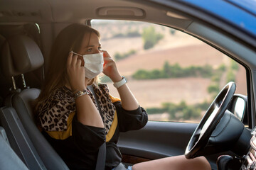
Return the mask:
[[[184, 154], [208, 106], [229, 81], [247, 94], [246, 71], [235, 60], [205, 42], [174, 28], [137, 21], [92, 20], [107, 50], [149, 122], [121, 133], [123, 162], [136, 164]], [[110, 31], [111, 30], [111, 31]], [[118, 96], [104, 74], [113, 96]], [[213, 169], [218, 155], [207, 157]]]

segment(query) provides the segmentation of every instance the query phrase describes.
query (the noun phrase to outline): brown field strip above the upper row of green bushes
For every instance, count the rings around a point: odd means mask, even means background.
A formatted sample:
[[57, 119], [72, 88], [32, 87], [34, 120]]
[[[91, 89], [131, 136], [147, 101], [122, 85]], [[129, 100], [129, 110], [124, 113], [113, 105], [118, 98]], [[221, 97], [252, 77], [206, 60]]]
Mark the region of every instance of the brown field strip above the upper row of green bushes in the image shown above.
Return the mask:
[[187, 45], [132, 55], [117, 62], [117, 67], [122, 74], [131, 75], [138, 69], [160, 69], [166, 61], [168, 61], [169, 64], [178, 63], [181, 67], [191, 65], [203, 66], [205, 64], [218, 67], [223, 63], [223, 54], [208, 45]]

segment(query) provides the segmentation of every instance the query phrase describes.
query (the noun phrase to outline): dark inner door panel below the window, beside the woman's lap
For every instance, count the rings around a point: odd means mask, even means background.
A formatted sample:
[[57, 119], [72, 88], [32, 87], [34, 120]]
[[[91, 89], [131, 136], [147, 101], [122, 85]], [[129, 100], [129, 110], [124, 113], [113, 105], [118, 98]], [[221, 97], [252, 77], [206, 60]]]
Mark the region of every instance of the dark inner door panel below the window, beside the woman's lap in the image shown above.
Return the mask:
[[[127, 155], [137, 157], [139, 160], [142, 158], [145, 161], [146, 159], [181, 155], [184, 154], [186, 145], [196, 126], [195, 123], [149, 121], [141, 130], [121, 132], [117, 145], [125, 159]], [[218, 156], [218, 154], [215, 154], [206, 157], [212, 169], [217, 169], [215, 162]]]

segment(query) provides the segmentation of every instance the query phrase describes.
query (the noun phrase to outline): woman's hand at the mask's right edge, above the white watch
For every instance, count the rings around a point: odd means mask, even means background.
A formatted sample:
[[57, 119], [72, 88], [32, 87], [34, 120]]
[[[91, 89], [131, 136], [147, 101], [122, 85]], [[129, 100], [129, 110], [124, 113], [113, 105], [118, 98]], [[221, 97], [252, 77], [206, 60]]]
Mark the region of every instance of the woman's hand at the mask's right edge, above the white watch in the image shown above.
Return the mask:
[[112, 79], [113, 82], [122, 80], [121, 75], [117, 70], [117, 65], [114, 60], [110, 57], [107, 51], [102, 50], [104, 57], [103, 73]]

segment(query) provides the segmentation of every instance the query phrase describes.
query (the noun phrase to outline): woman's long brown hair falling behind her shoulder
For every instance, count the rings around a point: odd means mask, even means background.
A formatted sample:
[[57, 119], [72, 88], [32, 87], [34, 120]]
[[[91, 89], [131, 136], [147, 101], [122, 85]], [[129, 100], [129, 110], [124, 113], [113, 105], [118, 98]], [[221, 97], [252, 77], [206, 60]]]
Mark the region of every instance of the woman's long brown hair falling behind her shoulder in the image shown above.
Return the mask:
[[[35, 101], [35, 113], [38, 106], [50, 96], [58, 87], [65, 86], [68, 83], [67, 60], [70, 51], [78, 52], [82, 45], [82, 39], [95, 33], [100, 38], [100, 33], [82, 24], [73, 23], [60, 31], [50, 52], [50, 63], [46, 79], [41, 89], [41, 93]], [[95, 80], [92, 80], [95, 81]]]

